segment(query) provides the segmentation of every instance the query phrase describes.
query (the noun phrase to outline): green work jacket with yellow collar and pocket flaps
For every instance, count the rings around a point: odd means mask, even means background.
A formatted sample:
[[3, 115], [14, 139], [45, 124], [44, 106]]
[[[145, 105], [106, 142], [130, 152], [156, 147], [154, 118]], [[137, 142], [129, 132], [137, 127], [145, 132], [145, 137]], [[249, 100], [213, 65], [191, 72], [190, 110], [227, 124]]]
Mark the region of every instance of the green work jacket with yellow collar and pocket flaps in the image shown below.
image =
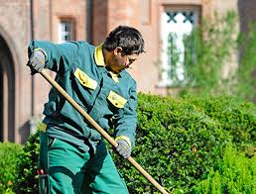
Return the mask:
[[[33, 41], [29, 56], [42, 48], [47, 56], [46, 68], [55, 72], [55, 80], [104, 130], [114, 129], [115, 137], [124, 136], [134, 145], [137, 126], [136, 81], [123, 70], [114, 74], [105, 68], [102, 47], [86, 42], [68, 42], [55, 45]], [[77, 145], [83, 150], [101, 140], [91, 127], [55, 89], [49, 93], [45, 104], [44, 124], [48, 136]]]

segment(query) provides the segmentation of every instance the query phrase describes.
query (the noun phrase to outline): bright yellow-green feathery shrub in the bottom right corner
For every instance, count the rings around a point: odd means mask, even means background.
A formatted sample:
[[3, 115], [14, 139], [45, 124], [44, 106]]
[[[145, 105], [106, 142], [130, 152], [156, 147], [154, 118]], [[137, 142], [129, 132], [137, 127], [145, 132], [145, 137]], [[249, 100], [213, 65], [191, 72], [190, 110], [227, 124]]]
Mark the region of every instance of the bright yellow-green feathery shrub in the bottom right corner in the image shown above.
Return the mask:
[[256, 155], [248, 158], [229, 144], [220, 168], [212, 169], [192, 189], [194, 193], [256, 193]]

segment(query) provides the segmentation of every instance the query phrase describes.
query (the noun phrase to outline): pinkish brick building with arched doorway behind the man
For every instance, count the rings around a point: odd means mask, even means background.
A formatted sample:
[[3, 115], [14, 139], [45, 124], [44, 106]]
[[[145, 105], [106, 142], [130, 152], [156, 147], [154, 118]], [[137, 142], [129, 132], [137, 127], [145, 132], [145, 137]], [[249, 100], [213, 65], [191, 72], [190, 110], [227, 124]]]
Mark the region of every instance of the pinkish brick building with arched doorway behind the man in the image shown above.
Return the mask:
[[237, 30], [246, 31], [248, 21], [256, 19], [255, 8], [250, 0], [0, 0], [0, 141], [24, 143], [30, 121], [41, 116], [48, 99], [51, 86], [40, 75], [30, 76], [26, 66], [31, 40], [86, 40], [97, 45], [118, 25], [137, 27], [147, 52], [131, 74], [139, 91], [166, 95], [172, 80], [160, 72], [164, 64], [158, 62], [165, 58], [161, 40], [171, 25], [165, 17], [188, 17], [189, 30], [214, 12], [232, 9], [240, 17]]

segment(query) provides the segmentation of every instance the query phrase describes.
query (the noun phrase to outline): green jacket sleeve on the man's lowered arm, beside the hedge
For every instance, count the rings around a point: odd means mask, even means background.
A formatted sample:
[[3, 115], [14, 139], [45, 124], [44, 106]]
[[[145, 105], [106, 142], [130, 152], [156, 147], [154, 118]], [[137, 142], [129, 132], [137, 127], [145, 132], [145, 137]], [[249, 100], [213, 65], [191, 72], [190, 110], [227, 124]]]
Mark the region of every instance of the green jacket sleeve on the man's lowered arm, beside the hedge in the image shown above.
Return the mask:
[[131, 145], [134, 146], [137, 128], [137, 85], [135, 81], [129, 93], [130, 96], [127, 104], [123, 108], [123, 113], [120, 113], [113, 119], [113, 125], [115, 129], [115, 137], [127, 137], [130, 140]]

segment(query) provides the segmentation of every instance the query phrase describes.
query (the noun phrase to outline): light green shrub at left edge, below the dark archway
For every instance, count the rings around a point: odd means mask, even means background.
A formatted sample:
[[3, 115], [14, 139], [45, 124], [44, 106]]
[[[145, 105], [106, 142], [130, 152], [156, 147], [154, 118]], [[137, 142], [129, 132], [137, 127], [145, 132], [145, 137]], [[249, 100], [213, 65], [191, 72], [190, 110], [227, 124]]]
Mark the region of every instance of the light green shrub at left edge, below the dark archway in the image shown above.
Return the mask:
[[17, 176], [18, 155], [22, 145], [13, 143], [0, 143], [0, 191], [4, 193], [13, 188]]

